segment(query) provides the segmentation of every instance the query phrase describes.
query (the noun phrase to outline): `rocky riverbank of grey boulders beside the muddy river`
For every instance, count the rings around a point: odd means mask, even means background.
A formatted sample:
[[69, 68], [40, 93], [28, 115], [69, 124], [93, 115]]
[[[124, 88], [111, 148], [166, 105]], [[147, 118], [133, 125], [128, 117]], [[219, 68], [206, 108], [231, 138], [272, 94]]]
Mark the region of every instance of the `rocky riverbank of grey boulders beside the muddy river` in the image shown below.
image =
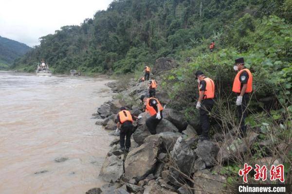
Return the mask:
[[[169, 65], [175, 66], [170, 62]], [[159, 82], [160, 78], [155, 78]], [[259, 136], [264, 132], [260, 129], [249, 129], [244, 139], [236, 137], [235, 128], [226, 134], [215, 133], [210, 141], [197, 141], [199, 118], [187, 122], [183, 113], [167, 107], [163, 111], [163, 120], [157, 126], [157, 134], [151, 135], [145, 124], [149, 115], [142, 112], [139, 101], [140, 96], [147, 92], [146, 83], [137, 83], [132, 79], [128, 82], [128, 88], [122, 87], [121, 82], [111, 82], [108, 86], [117, 95], [93, 114], [96, 124], [112, 130], [111, 135], [118, 135], [114, 132], [115, 117], [121, 106], [126, 106], [132, 114], [140, 115], [142, 119], [134, 122], [129, 153], [120, 150], [118, 137], [109, 143], [111, 150], [99, 175], [108, 184], [93, 188], [86, 194], [233, 193], [234, 183], [240, 182], [241, 178], [228, 174], [228, 171], [238, 173], [237, 168], [229, 168], [230, 163], [238, 164], [238, 158], [244, 160], [246, 156], [253, 155], [253, 145], [267, 152], [272, 146], [285, 153], [291, 151], [291, 146], [285, 143], [261, 141]], [[156, 97], [162, 104], [168, 103], [166, 93], [158, 91]], [[267, 154], [248, 162], [271, 166], [283, 163], [283, 158]]]

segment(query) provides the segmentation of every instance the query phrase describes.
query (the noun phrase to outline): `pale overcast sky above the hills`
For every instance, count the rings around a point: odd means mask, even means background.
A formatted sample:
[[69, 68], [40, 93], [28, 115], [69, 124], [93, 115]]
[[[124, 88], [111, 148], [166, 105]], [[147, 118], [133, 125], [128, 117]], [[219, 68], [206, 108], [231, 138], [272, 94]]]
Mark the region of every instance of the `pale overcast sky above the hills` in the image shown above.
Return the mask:
[[28, 46], [61, 26], [79, 25], [112, 0], [0, 0], [0, 36]]

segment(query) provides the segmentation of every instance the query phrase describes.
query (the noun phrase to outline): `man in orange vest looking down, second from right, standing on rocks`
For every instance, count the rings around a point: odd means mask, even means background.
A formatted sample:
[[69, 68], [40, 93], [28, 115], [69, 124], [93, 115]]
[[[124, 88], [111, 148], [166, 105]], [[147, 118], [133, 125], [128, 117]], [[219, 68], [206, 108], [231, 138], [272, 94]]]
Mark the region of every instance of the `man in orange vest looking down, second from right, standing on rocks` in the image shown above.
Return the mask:
[[196, 108], [200, 111], [200, 124], [202, 132], [199, 134], [200, 140], [209, 139], [209, 112], [214, 106], [214, 97], [215, 97], [215, 84], [214, 81], [204, 75], [202, 71], [196, 72], [196, 78], [198, 81], [199, 88], [199, 100]]

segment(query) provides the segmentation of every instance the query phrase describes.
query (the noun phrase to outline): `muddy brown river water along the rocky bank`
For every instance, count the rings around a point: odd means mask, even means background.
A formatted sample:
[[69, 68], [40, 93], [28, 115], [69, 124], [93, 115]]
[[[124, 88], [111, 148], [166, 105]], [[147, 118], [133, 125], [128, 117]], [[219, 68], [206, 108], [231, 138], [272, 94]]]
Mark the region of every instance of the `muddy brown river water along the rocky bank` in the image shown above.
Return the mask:
[[84, 194], [103, 184], [112, 137], [91, 114], [111, 99], [107, 82], [0, 71], [0, 194]]

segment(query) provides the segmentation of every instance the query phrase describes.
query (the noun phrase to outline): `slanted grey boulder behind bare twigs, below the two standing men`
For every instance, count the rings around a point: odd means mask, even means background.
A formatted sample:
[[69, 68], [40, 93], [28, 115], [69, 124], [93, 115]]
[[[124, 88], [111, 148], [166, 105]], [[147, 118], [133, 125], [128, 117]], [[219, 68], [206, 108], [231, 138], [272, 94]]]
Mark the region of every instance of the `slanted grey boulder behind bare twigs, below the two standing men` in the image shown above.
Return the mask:
[[257, 133], [249, 131], [246, 138], [233, 138], [224, 142], [219, 142], [220, 149], [217, 160], [219, 162], [226, 162], [238, 158], [248, 151], [251, 145], [256, 141], [257, 136]]

